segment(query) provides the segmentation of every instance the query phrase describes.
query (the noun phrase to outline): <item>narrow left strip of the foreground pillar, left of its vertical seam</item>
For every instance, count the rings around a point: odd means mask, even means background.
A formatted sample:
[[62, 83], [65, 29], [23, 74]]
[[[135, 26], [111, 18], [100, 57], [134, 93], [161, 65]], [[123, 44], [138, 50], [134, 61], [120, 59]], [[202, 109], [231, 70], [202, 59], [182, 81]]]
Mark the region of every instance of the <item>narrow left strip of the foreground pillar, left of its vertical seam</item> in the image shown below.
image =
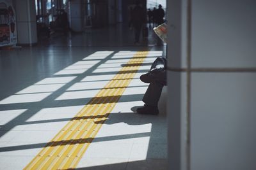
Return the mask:
[[185, 170], [188, 160], [188, 75], [186, 68], [187, 30], [186, 4], [182, 0], [167, 1], [168, 9], [168, 166]]

